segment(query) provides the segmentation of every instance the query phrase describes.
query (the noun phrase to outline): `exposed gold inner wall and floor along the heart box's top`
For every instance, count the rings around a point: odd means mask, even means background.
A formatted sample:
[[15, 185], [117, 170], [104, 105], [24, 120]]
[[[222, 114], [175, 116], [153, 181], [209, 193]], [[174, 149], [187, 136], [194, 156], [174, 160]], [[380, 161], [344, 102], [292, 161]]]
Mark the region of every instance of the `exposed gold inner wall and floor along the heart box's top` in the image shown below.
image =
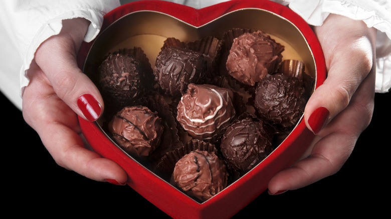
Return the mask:
[[316, 79], [315, 61], [300, 30], [284, 17], [259, 8], [235, 10], [200, 27], [156, 11], [129, 13], [98, 35], [86, 58], [84, 72], [94, 78], [99, 62], [108, 52], [133, 46], [144, 50], [153, 67], [167, 37], [175, 37], [181, 41], [193, 41], [206, 36], [221, 38], [224, 32], [237, 27], [268, 33], [285, 46], [283, 59], [304, 61], [306, 72]]

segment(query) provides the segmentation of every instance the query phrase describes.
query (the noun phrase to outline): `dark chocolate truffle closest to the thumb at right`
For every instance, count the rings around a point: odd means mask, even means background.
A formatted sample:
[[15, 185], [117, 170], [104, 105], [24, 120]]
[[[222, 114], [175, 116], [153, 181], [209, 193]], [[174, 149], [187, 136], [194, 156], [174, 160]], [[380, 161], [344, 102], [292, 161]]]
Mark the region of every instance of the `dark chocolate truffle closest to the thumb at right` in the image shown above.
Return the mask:
[[304, 112], [306, 98], [301, 80], [281, 73], [268, 74], [257, 84], [254, 107], [259, 116], [276, 126], [296, 124]]

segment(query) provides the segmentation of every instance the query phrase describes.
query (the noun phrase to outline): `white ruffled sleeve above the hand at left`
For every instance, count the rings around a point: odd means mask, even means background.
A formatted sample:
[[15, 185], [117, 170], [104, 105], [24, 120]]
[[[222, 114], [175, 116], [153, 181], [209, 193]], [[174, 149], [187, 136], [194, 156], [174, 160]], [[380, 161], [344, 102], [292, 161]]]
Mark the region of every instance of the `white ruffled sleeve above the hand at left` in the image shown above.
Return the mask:
[[118, 0], [4, 0], [0, 18], [4, 31], [22, 59], [20, 85], [29, 84], [26, 71], [39, 45], [62, 28], [62, 20], [83, 17], [91, 24], [84, 38], [91, 41], [100, 31], [103, 15], [119, 6]]

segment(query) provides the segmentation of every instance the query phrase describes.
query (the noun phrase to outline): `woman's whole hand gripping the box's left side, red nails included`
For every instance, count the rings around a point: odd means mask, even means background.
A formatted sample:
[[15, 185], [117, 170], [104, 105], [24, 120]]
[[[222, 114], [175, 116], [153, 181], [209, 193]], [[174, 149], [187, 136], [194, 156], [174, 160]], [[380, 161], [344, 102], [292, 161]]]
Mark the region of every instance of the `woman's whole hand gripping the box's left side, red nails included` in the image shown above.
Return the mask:
[[125, 184], [126, 172], [85, 148], [80, 135], [77, 114], [94, 121], [103, 112], [99, 90], [76, 62], [88, 25], [84, 18], [63, 20], [61, 32], [40, 45], [28, 72], [23, 116], [60, 166], [94, 180]]

